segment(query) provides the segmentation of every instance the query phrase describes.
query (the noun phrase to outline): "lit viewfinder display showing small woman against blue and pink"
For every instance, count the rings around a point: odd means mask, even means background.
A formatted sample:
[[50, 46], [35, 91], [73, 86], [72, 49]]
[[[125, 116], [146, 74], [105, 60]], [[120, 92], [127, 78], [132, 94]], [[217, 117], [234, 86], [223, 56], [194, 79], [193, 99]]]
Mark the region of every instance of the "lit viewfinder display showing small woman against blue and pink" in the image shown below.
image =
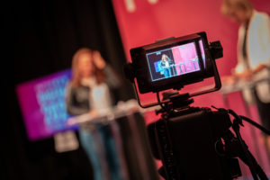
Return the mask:
[[201, 70], [194, 42], [148, 52], [146, 56], [152, 82]]

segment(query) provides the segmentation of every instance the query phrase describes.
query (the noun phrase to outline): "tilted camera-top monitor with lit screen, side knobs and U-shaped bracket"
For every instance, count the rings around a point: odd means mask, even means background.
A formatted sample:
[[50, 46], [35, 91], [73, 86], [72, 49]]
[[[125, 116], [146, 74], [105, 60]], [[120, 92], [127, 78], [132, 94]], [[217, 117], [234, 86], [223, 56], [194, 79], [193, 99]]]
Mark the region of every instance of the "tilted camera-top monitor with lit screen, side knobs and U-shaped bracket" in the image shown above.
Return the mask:
[[[191, 45], [193, 46], [187, 46]], [[185, 47], [184, 47], [185, 46]], [[185, 49], [184, 49], [185, 48]], [[175, 76], [169, 76], [159, 79], [153, 79], [153, 67], [151, 65], [157, 64], [158, 55], [156, 62], [153, 63], [153, 60], [150, 59], [150, 55], [170, 54], [172, 51], [172, 58], [176, 61], [191, 61], [193, 59], [183, 59], [183, 57], [177, 57], [177, 49], [182, 49], [181, 52], [189, 53], [195, 52], [197, 58], [198, 69], [191, 72], [185, 71], [185, 73], [179, 72]], [[180, 51], [178, 50], [178, 51]], [[166, 89], [175, 89], [180, 90], [184, 85], [190, 85], [203, 81], [204, 78], [213, 77], [215, 85], [210, 88], [200, 92], [190, 93], [190, 96], [196, 96], [201, 94], [207, 94], [214, 91], [217, 91], [221, 87], [220, 76], [218, 69], [216, 67], [215, 59], [223, 57], [223, 49], [220, 45], [220, 41], [213, 41], [208, 44], [207, 36], [205, 32], [198, 32], [191, 35], [187, 35], [179, 38], [169, 38], [165, 40], [157, 40], [156, 43], [142, 46], [139, 48], [130, 49], [130, 56], [132, 63], [128, 63], [124, 66], [123, 72], [124, 75], [134, 83], [135, 93], [139, 101], [139, 105], [143, 108], [148, 108], [150, 106], [155, 106], [160, 103], [149, 103], [147, 105], [142, 105], [139, 99], [139, 93], [145, 94], [148, 92], [158, 93]], [[176, 63], [175, 63], [176, 64]], [[181, 65], [180, 65], [181, 66]], [[175, 66], [176, 67], [176, 66]], [[179, 67], [178, 67], [179, 68]], [[181, 68], [181, 67], [180, 67]], [[176, 69], [178, 70], [178, 69]], [[181, 70], [181, 69], [180, 69]], [[155, 69], [157, 71], [157, 69]], [[157, 76], [157, 75], [156, 75]], [[152, 77], [152, 78], [151, 78]], [[137, 88], [138, 86], [138, 88]], [[139, 89], [139, 93], [137, 91]]]

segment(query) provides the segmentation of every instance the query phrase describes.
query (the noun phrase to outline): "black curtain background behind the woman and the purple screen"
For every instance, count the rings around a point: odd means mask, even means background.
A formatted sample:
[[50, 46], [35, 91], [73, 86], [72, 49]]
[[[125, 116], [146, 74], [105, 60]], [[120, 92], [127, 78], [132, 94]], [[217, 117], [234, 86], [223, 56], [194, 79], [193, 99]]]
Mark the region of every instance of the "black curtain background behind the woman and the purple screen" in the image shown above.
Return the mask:
[[[15, 86], [70, 68], [76, 49], [101, 51], [103, 58], [121, 75], [125, 55], [108, 0], [18, 1], [2, 6], [5, 33], [2, 58], [4, 116], [1, 123], [0, 179], [89, 179], [92, 169], [82, 148], [56, 153], [53, 139], [27, 139]], [[6, 68], [6, 69], [4, 69]], [[116, 95], [132, 96], [124, 81]]]

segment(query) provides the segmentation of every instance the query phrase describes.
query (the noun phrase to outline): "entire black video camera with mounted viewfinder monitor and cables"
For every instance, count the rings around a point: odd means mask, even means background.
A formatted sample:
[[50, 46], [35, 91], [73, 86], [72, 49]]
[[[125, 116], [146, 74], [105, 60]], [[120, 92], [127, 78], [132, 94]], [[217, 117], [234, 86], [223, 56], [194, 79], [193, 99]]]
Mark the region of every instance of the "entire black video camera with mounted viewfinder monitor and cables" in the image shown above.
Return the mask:
[[[242, 120], [232, 110], [191, 107], [193, 96], [217, 91], [221, 87], [215, 59], [222, 58], [220, 41], [208, 43], [206, 33], [157, 40], [156, 43], [130, 49], [132, 63], [124, 74], [135, 86], [143, 108], [159, 104], [161, 118], [148, 125], [148, 137], [154, 157], [162, 160], [160, 175], [166, 179], [230, 180], [241, 175], [239, 157], [249, 166], [254, 179], [267, 179], [241, 138]], [[213, 77], [215, 85], [204, 91], [179, 94], [184, 85]], [[157, 102], [142, 105], [139, 94], [157, 93]], [[229, 116], [233, 116], [233, 122]], [[261, 130], [269, 134], [256, 124]], [[234, 133], [229, 129], [232, 128]]]

